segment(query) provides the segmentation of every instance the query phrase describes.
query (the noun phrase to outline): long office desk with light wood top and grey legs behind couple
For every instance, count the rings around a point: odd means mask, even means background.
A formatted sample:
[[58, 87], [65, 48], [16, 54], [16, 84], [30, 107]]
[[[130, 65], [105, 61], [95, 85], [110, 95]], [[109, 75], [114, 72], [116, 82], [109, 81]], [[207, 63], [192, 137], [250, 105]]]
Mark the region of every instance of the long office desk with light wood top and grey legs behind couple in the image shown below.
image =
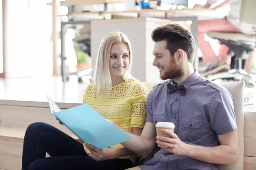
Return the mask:
[[[198, 17], [222, 18], [227, 15], [226, 12], [220, 12], [207, 8], [183, 8], [170, 10], [143, 9], [139, 11], [100, 11], [100, 12], [79, 12], [70, 13], [68, 16], [72, 21], [61, 23], [61, 75], [62, 81], [65, 82], [68, 77], [65, 66], [65, 49], [64, 49], [64, 29], [67, 25], [90, 24], [91, 20], [108, 20], [115, 18], [137, 18], [137, 17], [155, 17], [165, 18], [175, 21], [191, 21], [191, 33], [195, 38], [195, 44], [198, 46]], [[194, 67], [198, 69], [199, 60], [197, 50], [195, 51]]]

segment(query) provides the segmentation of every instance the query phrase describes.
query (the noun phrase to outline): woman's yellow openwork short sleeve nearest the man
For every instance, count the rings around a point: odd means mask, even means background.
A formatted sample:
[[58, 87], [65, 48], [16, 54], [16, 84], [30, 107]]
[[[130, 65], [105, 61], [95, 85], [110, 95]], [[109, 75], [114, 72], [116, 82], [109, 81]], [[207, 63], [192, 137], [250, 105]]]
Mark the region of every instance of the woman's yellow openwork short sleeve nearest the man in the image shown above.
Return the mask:
[[146, 122], [146, 103], [148, 99], [148, 88], [142, 84], [134, 89], [134, 99], [132, 101], [131, 127], [143, 128]]

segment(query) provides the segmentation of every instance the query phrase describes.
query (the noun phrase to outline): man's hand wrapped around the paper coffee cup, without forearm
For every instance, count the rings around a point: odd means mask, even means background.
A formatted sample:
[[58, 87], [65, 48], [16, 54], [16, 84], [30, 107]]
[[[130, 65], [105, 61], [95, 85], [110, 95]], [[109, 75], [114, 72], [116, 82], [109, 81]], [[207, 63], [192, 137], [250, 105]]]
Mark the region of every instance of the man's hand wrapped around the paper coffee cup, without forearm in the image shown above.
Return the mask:
[[167, 150], [175, 155], [186, 155], [188, 152], [188, 144], [182, 142], [180, 138], [168, 129], [161, 129], [163, 133], [168, 134], [169, 137], [157, 136], [157, 144], [162, 146], [164, 150]]

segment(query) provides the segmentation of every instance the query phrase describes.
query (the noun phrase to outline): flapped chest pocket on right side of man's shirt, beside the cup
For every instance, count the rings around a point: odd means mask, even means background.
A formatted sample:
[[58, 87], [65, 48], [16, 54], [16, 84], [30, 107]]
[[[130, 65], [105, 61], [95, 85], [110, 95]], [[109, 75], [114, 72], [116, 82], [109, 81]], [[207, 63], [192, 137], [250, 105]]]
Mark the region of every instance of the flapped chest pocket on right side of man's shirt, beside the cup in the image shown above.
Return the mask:
[[193, 142], [201, 138], [203, 120], [183, 118], [181, 124], [183, 142]]

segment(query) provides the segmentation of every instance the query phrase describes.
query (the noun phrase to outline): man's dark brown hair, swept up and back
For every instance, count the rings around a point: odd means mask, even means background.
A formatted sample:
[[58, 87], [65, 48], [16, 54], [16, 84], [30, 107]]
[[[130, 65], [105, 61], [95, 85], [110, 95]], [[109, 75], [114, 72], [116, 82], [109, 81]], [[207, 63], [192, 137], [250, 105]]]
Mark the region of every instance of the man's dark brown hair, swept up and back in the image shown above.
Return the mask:
[[178, 49], [186, 51], [189, 62], [193, 63], [195, 40], [186, 28], [178, 24], [167, 24], [166, 26], [155, 28], [151, 36], [154, 42], [166, 40], [166, 49], [170, 51], [172, 56]]

